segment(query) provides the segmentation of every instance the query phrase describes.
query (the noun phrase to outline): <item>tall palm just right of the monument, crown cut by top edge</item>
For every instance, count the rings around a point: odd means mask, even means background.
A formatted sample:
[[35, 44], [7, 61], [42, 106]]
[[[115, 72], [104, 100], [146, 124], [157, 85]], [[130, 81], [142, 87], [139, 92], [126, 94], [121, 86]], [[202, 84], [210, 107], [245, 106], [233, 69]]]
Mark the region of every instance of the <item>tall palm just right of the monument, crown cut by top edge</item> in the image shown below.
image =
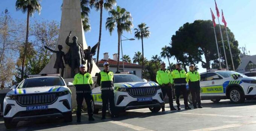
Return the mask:
[[[113, 7], [116, 6], [116, 0], [90, 0], [90, 7], [95, 7], [96, 11], [101, 10], [100, 12], [100, 24], [99, 24], [99, 42], [101, 42], [101, 28], [102, 28], [102, 10], [103, 7], [106, 10], [111, 10]], [[98, 45], [97, 51], [97, 61], [96, 65], [98, 66], [99, 63], [99, 48], [101, 43]]]

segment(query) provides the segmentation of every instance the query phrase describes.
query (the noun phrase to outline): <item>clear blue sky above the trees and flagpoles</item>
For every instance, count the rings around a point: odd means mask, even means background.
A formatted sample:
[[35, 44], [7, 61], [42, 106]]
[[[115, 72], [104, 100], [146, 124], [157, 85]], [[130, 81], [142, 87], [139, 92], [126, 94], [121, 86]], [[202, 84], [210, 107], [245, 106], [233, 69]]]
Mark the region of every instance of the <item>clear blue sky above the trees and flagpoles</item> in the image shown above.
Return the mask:
[[[12, 18], [26, 20], [25, 14], [16, 11], [15, 2], [16, 0], [0, 0], [0, 12], [8, 9]], [[254, 9], [256, 0], [216, 0], [216, 2], [220, 13], [223, 9], [227, 27], [234, 33], [239, 47], [246, 45], [247, 51], [250, 51], [251, 55], [256, 55], [256, 15], [254, 15], [256, 14]], [[41, 0], [41, 14], [35, 13], [30, 21], [44, 19], [60, 23], [61, 4], [62, 0]], [[197, 19], [212, 19], [210, 7], [216, 16], [214, 0], [117, 0], [117, 6], [123, 7], [131, 13], [134, 28], [137, 28], [137, 25], [142, 22], [150, 27], [151, 36], [148, 39], [143, 39], [144, 57], [148, 60], [151, 60], [152, 55], [160, 56], [161, 48], [169, 45], [172, 35], [184, 23], [192, 23]], [[105, 30], [107, 17], [109, 17], [107, 10], [103, 10], [100, 59], [103, 58], [105, 52], [109, 53], [111, 59], [113, 59], [112, 54], [117, 53], [117, 30], [115, 29], [111, 36]], [[85, 33], [85, 39], [88, 46], [93, 46], [99, 39], [100, 13], [91, 9], [89, 18], [91, 31]], [[215, 21], [218, 24], [218, 19]], [[219, 21], [221, 22], [221, 17]], [[222, 22], [221, 24], [223, 25]], [[124, 32], [123, 36], [129, 39], [134, 38], [134, 28], [132, 33]], [[125, 38], [122, 37], [122, 39]], [[123, 54], [129, 55], [131, 58], [133, 58], [134, 52], [142, 52], [141, 40], [125, 40], [122, 45]], [[162, 58], [162, 60], [168, 63], [167, 59]], [[170, 61], [175, 63], [176, 60], [172, 57]], [[201, 63], [198, 64], [198, 67], [200, 72], [206, 71], [201, 67]]]

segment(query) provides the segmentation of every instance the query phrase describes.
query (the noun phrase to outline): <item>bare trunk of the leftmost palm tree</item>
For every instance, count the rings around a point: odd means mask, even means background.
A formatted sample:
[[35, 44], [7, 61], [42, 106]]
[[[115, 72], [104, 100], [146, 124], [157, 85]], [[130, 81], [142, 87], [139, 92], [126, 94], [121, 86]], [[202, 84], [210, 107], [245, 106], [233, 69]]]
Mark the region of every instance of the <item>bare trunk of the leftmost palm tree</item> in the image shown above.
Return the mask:
[[21, 67], [21, 80], [23, 80], [24, 76], [24, 64], [26, 60], [26, 55], [27, 55], [27, 44], [28, 44], [28, 39], [29, 39], [29, 9], [27, 9], [27, 32], [26, 32], [26, 43], [25, 43], [25, 48], [24, 48], [24, 54], [22, 58], [22, 67]]

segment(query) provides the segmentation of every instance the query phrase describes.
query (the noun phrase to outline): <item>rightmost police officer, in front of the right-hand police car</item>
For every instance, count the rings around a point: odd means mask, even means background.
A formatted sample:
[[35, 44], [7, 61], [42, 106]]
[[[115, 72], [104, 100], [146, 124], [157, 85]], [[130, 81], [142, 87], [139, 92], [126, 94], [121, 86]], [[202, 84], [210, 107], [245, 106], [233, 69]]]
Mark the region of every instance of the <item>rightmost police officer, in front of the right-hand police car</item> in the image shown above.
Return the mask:
[[203, 108], [201, 106], [201, 95], [200, 95], [200, 74], [195, 71], [193, 64], [189, 65], [189, 72], [187, 73], [186, 81], [189, 83], [189, 90], [192, 95], [192, 103], [194, 109]]

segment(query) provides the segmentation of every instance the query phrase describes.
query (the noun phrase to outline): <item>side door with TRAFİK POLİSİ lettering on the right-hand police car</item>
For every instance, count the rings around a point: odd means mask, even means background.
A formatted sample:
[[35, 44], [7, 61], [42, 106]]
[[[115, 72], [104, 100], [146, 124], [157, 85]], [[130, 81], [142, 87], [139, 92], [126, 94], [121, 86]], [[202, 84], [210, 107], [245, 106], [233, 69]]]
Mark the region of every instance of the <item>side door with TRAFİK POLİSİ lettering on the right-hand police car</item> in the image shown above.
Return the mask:
[[224, 96], [223, 78], [214, 72], [205, 73], [201, 79], [201, 95], [202, 96]]

